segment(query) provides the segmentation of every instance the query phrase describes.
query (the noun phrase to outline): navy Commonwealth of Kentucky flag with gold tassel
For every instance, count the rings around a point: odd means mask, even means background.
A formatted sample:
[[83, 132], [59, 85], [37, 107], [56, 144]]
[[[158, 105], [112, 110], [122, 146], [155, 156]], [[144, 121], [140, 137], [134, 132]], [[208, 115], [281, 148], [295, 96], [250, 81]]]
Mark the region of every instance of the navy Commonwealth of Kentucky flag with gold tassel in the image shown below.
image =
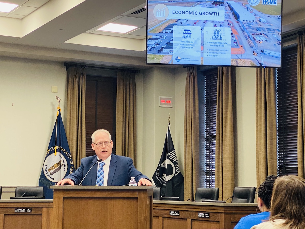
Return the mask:
[[60, 108], [57, 108], [57, 119], [39, 178], [39, 186], [43, 186], [46, 199], [53, 199], [53, 190], [50, 189], [50, 185], [56, 185], [75, 170]]

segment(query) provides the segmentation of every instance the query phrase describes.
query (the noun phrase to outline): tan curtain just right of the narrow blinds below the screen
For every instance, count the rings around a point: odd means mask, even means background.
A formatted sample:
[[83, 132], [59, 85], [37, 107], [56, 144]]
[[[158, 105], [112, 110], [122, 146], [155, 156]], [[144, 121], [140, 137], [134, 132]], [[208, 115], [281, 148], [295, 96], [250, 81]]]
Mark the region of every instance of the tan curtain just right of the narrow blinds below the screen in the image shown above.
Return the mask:
[[235, 68], [218, 67], [215, 187], [219, 200], [227, 199], [235, 187]]

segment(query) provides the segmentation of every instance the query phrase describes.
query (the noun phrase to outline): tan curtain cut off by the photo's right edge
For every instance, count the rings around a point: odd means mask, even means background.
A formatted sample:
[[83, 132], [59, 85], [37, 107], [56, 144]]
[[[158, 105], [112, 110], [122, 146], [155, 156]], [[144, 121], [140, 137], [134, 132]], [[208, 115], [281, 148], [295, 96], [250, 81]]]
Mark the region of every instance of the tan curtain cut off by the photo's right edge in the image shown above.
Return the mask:
[[299, 35], [298, 41], [298, 176], [304, 178], [304, 143], [305, 143], [305, 35]]

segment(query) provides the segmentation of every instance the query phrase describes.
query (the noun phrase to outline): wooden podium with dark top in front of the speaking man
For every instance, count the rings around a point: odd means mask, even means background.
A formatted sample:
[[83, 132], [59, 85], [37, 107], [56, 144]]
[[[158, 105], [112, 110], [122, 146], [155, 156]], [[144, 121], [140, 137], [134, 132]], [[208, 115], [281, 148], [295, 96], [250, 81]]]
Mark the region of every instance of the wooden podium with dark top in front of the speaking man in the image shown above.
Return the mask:
[[152, 186], [50, 186], [54, 229], [152, 228]]

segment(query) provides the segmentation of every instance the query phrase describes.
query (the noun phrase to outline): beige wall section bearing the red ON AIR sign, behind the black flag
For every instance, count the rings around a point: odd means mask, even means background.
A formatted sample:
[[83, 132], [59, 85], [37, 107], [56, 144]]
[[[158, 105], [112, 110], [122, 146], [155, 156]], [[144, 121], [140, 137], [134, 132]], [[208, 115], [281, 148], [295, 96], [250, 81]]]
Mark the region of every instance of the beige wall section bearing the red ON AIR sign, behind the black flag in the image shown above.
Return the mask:
[[[159, 96], [173, 97], [173, 107], [159, 107]], [[168, 115], [171, 135], [175, 138], [174, 69], [152, 67], [143, 73], [143, 173], [152, 177], [159, 163]]]

